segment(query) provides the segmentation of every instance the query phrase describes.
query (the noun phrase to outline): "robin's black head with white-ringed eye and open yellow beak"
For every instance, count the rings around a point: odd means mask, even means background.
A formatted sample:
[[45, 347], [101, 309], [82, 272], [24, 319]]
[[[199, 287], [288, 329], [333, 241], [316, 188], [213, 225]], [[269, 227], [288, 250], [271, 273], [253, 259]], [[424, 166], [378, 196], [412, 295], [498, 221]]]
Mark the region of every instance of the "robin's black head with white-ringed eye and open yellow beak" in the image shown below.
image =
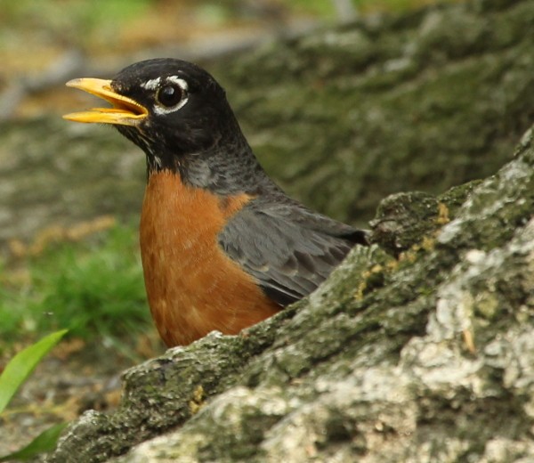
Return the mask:
[[77, 78], [68, 86], [111, 103], [63, 118], [113, 124], [147, 154], [149, 169], [177, 169], [187, 158], [212, 156], [247, 142], [223, 87], [187, 61], [156, 59], [122, 69], [111, 80]]

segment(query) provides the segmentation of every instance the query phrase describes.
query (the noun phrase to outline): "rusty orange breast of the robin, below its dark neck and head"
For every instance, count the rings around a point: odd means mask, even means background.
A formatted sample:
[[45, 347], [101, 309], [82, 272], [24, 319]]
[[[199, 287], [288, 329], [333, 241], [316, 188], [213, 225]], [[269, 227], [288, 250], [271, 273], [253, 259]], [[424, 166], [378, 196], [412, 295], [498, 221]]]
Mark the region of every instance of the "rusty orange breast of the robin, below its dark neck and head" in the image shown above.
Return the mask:
[[187, 345], [217, 329], [236, 334], [279, 311], [217, 243], [231, 215], [250, 200], [221, 199], [152, 174], [141, 217], [141, 253], [150, 312], [166, 345]]

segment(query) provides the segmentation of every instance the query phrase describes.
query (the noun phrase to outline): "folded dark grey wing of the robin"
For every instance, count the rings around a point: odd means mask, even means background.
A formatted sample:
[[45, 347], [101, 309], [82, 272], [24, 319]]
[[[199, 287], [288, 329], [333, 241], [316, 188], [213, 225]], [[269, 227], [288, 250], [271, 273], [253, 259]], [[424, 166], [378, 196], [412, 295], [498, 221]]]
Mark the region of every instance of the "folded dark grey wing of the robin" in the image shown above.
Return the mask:
[[225, 253], [282, 306], [310, 294], [356, 243], [367, 244], [365, 231], [295, 205], [247, 205], [219, 234]]

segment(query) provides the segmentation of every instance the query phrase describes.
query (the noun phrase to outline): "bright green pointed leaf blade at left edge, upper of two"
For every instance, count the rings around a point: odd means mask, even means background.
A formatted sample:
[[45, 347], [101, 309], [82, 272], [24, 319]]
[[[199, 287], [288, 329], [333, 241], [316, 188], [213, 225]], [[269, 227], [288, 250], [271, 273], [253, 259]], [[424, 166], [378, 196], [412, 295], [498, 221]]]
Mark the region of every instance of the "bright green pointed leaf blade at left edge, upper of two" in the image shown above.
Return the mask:
[[5, 370], [0, 376], [0, 413], [2, 413], [17, 392], [20, 385], [28, 378], [29, 374], [36, 368], [37, 363], [46, 353], [58, 344], [61, 337], [65, 335], [67, 329], [56, 331], [36, 344], [29, 345], [24, 350], [17, 353], [5, 366]]

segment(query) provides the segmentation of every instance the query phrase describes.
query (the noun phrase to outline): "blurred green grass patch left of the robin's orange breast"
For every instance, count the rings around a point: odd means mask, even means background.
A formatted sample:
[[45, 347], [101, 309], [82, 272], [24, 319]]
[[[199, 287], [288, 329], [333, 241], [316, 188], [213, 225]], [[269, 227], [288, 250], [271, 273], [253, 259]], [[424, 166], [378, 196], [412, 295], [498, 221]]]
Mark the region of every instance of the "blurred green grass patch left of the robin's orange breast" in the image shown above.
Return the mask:
[[23, 265], [26, 278], [14, 283], [0, 269], [3, 340], [54, 329], [85, 339], [131, 337], [150, 328], [134, 226], [54, 245]]

